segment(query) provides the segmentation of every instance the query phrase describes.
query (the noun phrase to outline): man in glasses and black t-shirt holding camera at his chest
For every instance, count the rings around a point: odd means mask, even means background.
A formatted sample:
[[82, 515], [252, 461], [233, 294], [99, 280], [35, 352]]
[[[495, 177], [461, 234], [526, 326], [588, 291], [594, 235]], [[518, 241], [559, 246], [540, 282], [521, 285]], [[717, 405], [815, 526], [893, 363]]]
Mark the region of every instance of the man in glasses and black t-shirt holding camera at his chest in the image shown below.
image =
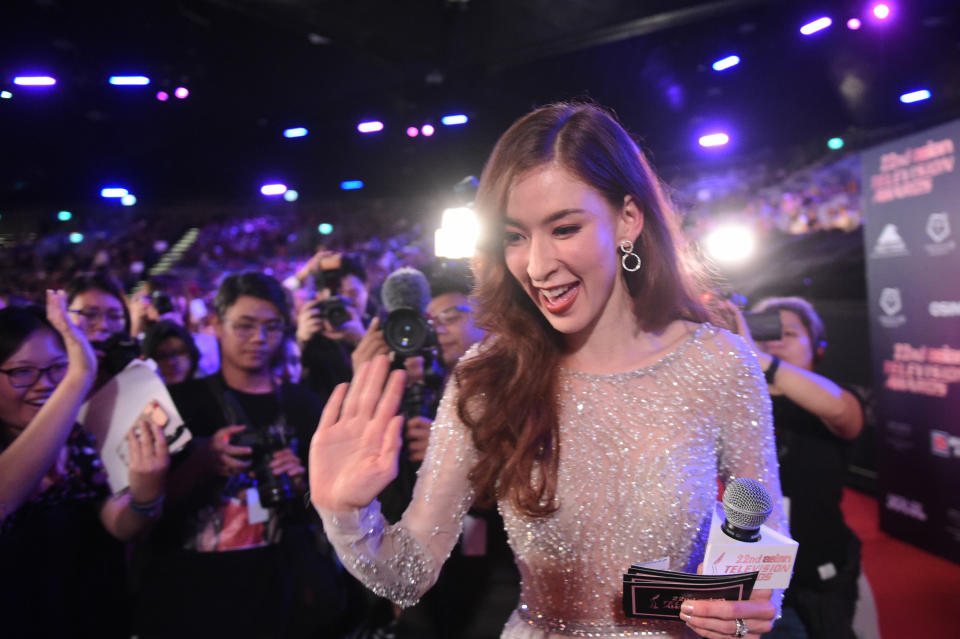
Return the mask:
[[303, 500], [303, 455], [323, 402], [273, 376], [289, 322], [284, 291], [260, 273], [231, 275], [214, 305], [221, 372], [170, 389], [196, 439], [176, 460], [169, 516], [143, 549], [138, 634], [335, 635], [347, 590]]

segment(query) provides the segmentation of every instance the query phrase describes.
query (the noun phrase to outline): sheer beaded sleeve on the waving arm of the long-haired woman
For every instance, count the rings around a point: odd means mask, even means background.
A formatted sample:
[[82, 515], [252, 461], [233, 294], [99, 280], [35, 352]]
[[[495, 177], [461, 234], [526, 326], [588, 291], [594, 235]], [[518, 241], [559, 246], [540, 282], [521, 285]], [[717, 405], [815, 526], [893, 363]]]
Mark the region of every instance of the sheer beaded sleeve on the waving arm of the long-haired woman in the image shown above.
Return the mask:
[[355, 511], [320, 511], [327, 537], [347, 570], [404, 607], [433, 586], [474, 499], [467, 473], [476, 463], [476, 450], [457, 417], [456, 396], [451, 381], [430, 429], [413, 499], [400, 521], [387, 524], [376, 500]]

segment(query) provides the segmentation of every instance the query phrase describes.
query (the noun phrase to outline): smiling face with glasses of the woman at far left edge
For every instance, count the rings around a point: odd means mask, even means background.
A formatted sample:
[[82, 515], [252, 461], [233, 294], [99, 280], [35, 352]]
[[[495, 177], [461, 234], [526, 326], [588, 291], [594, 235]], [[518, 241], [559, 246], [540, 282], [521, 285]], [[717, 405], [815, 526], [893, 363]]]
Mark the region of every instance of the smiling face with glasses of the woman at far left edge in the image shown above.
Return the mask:
[[[20, 348], [0, 364], [0, 369], [47, 368], [66, 363], [67, 355], [60, 340], [49, 329], [41, 328], [31, 333]], [[26, 388], [13, 386], [9, 375], [0, 374], [0, 420], [9, 428], [7, 435], [11, 439], [26, 428], [56, 388], [50, 374], [40, 375]]]

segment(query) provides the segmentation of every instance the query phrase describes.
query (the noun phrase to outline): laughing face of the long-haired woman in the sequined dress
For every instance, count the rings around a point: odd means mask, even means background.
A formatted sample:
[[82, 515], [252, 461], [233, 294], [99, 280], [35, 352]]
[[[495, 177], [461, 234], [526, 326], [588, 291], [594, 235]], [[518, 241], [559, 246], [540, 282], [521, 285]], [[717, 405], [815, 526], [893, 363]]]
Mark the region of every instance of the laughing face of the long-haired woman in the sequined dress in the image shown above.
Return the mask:
[[567, 336], [632, 318], [617, 246], [643, 218], [629, 197], [618, 210], [565, 169], [521, 176], [507, 197], [504, 257], [547, 321]]

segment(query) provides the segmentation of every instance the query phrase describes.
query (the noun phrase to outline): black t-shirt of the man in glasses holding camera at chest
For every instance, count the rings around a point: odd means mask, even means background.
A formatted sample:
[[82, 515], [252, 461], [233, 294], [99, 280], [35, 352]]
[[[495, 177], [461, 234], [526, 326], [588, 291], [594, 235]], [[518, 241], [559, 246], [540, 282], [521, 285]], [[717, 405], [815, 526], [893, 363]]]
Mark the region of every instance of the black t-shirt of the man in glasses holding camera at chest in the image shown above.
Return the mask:
[[[225, 402], [224, 391], [232, 399]], [[173, 386], [170, 394], [196, 438], [241, 421], [237, 413], [248, 431], [285, 422], [289, 445], [306, 467], [323, 408], [310, 391], [284, 384], [279, 393], [244, 393], [217, 375]], [[247, 501], [257, 491], [253, 474], [207, 477], [168, 505], [138, 557], [141, 637], [336, 636], [344, 630], [354, 590], [319, 518], [298, 494], [257, 521]]]

